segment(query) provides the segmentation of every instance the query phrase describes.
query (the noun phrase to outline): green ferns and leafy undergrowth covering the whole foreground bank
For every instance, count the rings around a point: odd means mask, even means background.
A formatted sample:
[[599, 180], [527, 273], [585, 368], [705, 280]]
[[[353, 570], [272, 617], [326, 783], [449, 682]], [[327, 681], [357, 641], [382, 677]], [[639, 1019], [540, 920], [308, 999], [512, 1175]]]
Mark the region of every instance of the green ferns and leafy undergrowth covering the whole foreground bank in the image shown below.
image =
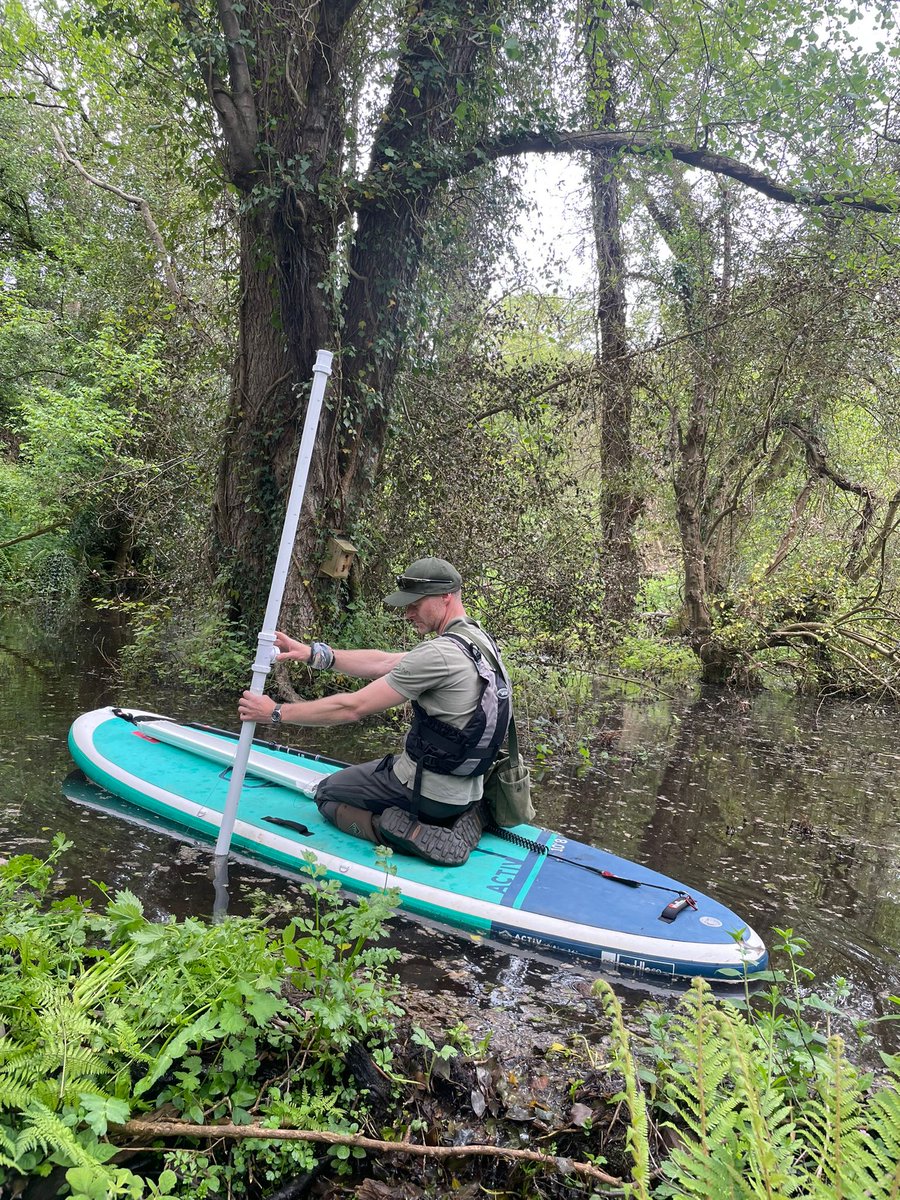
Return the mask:
[[[752, 989], [738, 980], [727, 998], [694, 980], [680, 997], [625, 1015], [610, 983], [596, 980], [593, 1028], [539, 1056], [538, 1090], [524, 1104], [520, 1067], [494, 1051], [490, 1033], [475, 1043], [454, 1019], [443, 1033], [413, 1026], [409, 1034], [390, 974], [395, 952], [379, 944], [396, 899], [388, 889], [349, 904], [311, 864], [304, 916], [274, 901], [277, 925], [156, 923], [128, 890], [100, 887], [97, 907], [56, 896], [53, 872], [66, 848], [56, 839], [46, 862], [20, 856], [0, 866], [4, 1195], [28, 1200], [36, 1184], [41, 1195], [77, 1200], [263, 1200], [310, 1172], [331, 1181], [330, 1195], [361, 1195], [376, 1158], [354, 1135], [449, 1145], [460, 1121], [470, 1139], [498, 1148], [497, 1162], [398, 1153], [385, 1165], [382, 1156], [378, 1178], [386, 1171], [390, 1182], [377, 1194], [900, 1194], [900, 1056], [874, 1052], [871, 1025], [846, 1013], [848, 985], [814, 990], [805, 943], [791, 930], [776, 931], [774, 948], [786, 968]], [[869, 1069], [852, 1061], [860, 1054]], [[562, 1098], [556, 1123], [552, 1090]], [[481, 1124], [479, 1096], [491, 1114]], [[517, 1110], [505, 1123], [504, 1103]], [[522, 1120], [538, 1114], [534, 1132], [544, 1133], [528, 1141], [546, 1160], [502, 1164], [504, 1146], [523, 1144]], [[142, 1118], [185, 1122], [187, 1132], [134, 1157]], [[210, 1123], [344, 1141], [191, 1136], [190, 1126]], [[598, 1183], [589, 1172], [600, 1169], [617, 1182]]]

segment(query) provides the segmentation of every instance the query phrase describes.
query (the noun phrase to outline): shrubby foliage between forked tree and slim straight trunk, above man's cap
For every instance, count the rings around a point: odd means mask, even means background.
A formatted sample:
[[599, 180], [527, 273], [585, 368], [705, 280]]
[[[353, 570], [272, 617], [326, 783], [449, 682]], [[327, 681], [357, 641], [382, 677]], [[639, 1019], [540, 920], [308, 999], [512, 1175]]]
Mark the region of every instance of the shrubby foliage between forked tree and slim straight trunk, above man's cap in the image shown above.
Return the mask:
[[380, 584], [434, 547], [500, 636], [595, 624], [596, 440], [568, 412], [563, 382], [586, 364], [586, 310], [534, 295], [498, 310], [466, 290], [444, 302], [438, 336], [432, 314], [398, 383], [403, 415], [362, 529], [371, 577]]

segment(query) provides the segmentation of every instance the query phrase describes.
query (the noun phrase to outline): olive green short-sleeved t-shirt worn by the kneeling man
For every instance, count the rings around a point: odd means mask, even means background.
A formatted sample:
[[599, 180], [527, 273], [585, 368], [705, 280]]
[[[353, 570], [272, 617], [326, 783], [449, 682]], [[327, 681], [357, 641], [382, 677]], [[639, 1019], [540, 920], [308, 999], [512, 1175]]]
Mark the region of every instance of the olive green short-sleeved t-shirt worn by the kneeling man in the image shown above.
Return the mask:
[[[457, 617], [444, 630], [445, 634], [470, 636], [478, 646], [487, 637], [476, 620]], [[481, 635], [479, 637], [479, 634]], [[463, 728], [475, 712], [481, 695], [481, 682], [469, 655], [449, 637], [436, 637], [420, 642], [389, 671], [385, 679], [407, 700], [418, 701], [430, 716], [446, 721], [457, 730]], [[404, 787], [415, 782], [415, 763], [403, 750], [394, 760], [394, 774]], [[463, 779], [458, 775], [439, 775], [422, 770], [421, 793], [442, 804], [472, 804], [481, 798], [481, 775]]]

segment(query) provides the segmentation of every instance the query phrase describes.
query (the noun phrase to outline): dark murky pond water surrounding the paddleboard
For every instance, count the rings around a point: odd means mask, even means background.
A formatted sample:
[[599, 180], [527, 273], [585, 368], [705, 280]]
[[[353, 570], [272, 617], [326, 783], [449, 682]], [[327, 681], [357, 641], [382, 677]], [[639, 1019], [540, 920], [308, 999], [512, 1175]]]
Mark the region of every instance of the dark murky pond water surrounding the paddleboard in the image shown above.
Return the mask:
[[[64, 864], [70, 890], [89, 895], [92, 881], [128, 887], [154, 918], [211, 912], [204, 850], [64, 790], [68, 726], [101, 704], [236, 727], [232, 704], [176, 689], [127, 694], [114, 683], [116, 642], [109, 624], [59, 628], [0, 614], [0, 853], [41, 854], [61, 832], [73, 842]], [[365, 730], [292, 732], [295, 744], [338, 758], [389, 749]], [[793, 928], [810, 942], [804, 965], [820, 992], [840, 977], [850, 982], [851, 1015], [898, 1012], [889, 1000], [900, 994], [896, 708], [713, 692], [623, 702], [610, 732], [614, 752], [581, 778], [546, 770], [535, 788], [541, 823], [710, 893], [768, 943], [775, 928]], [[290, 887], [234, 865], [232, 911], [247, 911], [253, 889]], [[521, 1026], [523, 1016], [577, 1024], [595, 977], [586, 964], [514, 954], [403, 917], [392, 937], [401, 977], [431, 992], [449, 1019], [454, 997], [474, 996], [494, 1013], [515, 1010]], [[878, 1027], [886, 1049], [900, 1046], [899, 1025]]]

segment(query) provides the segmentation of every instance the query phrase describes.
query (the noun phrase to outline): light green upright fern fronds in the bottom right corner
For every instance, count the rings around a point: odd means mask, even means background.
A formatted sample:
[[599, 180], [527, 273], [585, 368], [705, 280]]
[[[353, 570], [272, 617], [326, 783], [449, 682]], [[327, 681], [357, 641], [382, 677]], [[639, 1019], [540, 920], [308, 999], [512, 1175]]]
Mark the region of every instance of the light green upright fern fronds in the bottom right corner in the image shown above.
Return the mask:
[[[900, 1063], [884, 1056], [888, 1075], [877, 1086], [851, 1064], [842, 1038], [829, 1028], [840, 1009], [799, 988], [800, 976], [809, 976], [798, 965], [803, 941], [779, 932], [788, 971], [770, 974], [762, 998], [746, 991], [743, 1004], [736, 1003], [695, 979], [673, 1012], [652, 1016], [649, 1040], [636, 1057], [614, 992], [605, 980], [595, 983], [612, 1022], [612, 1066], [625, 1080], [635, 1181], [629, 1194], [895, 1195]], [[809, 1013], [824, 1015], [824, 1033]], [[638, 1074], [650, 1086], [648, 1109]], [[646, 1165], [656, 1134], [648, 1111], [659, 1130], [668, 1130], [672, 1147], [652, 1192]]]

